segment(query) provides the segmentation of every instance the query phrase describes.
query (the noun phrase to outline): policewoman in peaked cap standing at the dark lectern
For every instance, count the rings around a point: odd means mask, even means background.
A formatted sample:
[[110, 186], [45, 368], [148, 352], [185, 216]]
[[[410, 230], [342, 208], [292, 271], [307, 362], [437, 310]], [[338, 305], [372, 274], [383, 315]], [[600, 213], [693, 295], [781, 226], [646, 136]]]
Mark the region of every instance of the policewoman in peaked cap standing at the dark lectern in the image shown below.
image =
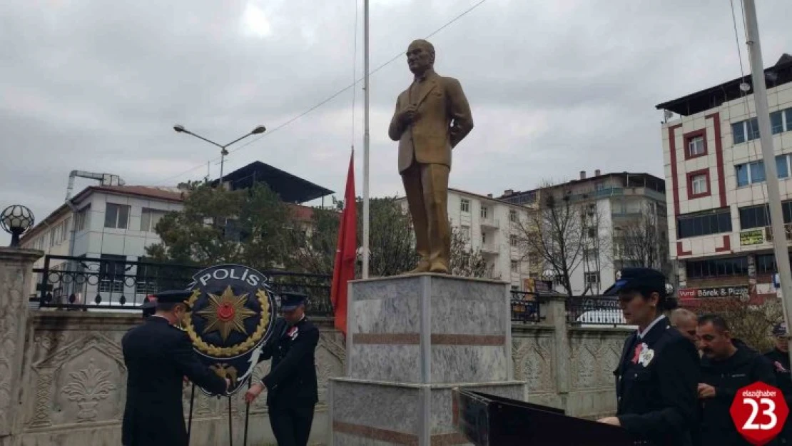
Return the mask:
[[666, 296], [665, 276], [653, 269], [623, 269], [604, 295], [618, 295], [624, 318], [638, 326], [624, 343], [616, 368], [615, 417], [637, 444], [689, 446], [696, 429], [699, 355], [663, 314], [676, 307]]

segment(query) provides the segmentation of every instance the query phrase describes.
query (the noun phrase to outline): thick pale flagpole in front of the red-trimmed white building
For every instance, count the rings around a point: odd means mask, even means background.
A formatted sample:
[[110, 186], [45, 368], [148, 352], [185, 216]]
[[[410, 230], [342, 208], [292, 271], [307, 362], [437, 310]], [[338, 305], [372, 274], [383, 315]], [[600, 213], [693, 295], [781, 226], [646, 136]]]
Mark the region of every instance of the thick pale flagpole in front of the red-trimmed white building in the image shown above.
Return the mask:
[[[754, 0], [744, 0], [745, 31], [748, 34], [748, 56], [751, 59], [751, 75], [753, 78], [753, 99], [756, 102], [756, 118], [759, 120], [759, 135], [764, 160], [764, 173], [767, 178], [767, 202], [770, 204], [770, 220], [773, 234], [773, 250], [775, 265], [781, 282], [781, 298], [786, 326], [792, 319], [792, 270], [786, 245], [786, 231], [781, 206], [778, 169], [775, 166], [775, 148], [770, 128], [770, 108], [767, 105], [767, 86], [764, 82], [762, 62], [762, 46], [759, 41], [759, 21], [756, 19]], [[792, 339], [790, 339], [792, 345]], [[792, 355], [792, 350], [790, 350]]]

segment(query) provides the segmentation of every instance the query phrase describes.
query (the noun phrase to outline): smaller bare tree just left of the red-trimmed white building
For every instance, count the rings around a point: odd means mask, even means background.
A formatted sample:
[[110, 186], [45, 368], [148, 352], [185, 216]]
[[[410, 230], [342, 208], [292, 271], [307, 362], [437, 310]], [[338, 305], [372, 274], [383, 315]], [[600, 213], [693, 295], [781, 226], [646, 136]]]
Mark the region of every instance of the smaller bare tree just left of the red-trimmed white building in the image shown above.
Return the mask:
[[653, 268], [668, 275], [668, 223], [651, 204], [644, 204], [640, 215], [614, 228], [615, 252], [625, 266]]

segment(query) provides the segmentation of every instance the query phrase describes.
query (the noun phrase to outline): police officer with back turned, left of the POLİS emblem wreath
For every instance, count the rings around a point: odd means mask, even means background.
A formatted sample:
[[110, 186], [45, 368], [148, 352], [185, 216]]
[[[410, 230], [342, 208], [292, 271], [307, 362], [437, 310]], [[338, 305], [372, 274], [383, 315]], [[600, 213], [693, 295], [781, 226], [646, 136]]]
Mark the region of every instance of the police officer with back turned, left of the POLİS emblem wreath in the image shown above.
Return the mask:
[[229, 380], [201, 364], [189, 337], [177, 328], [191, 294], [158, 293], [154, 314], [121, 340], [127, 367], [124, 446], [187, 446], [181, 404], [185, 376], [215, 394], [227, 391]]

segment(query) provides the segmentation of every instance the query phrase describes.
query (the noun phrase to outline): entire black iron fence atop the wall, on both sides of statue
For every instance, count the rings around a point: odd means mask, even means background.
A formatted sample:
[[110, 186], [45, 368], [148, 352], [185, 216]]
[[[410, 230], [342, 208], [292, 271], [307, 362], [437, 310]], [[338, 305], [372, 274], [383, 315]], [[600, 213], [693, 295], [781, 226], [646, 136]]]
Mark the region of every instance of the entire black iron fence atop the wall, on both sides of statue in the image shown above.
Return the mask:
[[[31, 308], [62, 310], [139, 311], [148, 295], [168, 289], [183, 289], [203, 266], [126, 261], [108, 258], [48, 255], [44, 267], [34, 269], [36, 292]], [[303, 292], [308, 296], [307, 313], [332, 316], [330, 283], [322, 274], [262, 271], [276, 293]], [[542, 322], [543, 295], [512, 291], [514, 322]], [[625, 325], [619, 301], [606, 297], [572, 297], [566, 300], [566, 321], [573, 325]]]

